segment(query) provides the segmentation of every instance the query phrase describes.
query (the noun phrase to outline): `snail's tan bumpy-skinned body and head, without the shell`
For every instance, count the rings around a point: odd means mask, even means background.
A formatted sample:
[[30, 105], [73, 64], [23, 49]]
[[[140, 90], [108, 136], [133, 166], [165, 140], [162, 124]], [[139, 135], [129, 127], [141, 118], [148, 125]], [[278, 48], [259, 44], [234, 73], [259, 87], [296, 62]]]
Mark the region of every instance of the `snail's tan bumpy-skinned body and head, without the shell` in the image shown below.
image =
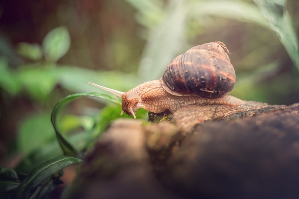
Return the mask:
[[[127, 100], [128, 95], [138, 95], [141, 97], [141, 102], [137, 98]], [[137, 87], [124, 92], [122, 96], [122, 109], [132, 115], [130, 109], [136, 113], [137, 109], [144, 108], [147, 111], [159, 113], [166, 109], [170, 112], [175, 112], [180, 107], [186, 107], [194, 104], [223, 104], [237, 107], [244, 104], [244, 101], [235, 98], [231, 95], [225, 95], [222, 98], [204, 98], [195, 95], [177, 96], [165, 91], [159, 80], [148, 81], [138, 85]]]

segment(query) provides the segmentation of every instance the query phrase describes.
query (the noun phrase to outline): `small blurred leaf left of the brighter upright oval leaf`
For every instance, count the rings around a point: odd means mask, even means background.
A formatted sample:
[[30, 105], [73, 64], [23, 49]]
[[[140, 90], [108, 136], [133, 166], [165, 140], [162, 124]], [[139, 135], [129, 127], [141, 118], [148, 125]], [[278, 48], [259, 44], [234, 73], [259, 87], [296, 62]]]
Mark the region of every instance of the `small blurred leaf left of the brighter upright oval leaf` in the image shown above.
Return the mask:
[[24, 58], [31, 60], [38, 60], [42, 58], [42, 50], [39, 44], [29, 44], [21, 42], [18, 44], [17, 53]]

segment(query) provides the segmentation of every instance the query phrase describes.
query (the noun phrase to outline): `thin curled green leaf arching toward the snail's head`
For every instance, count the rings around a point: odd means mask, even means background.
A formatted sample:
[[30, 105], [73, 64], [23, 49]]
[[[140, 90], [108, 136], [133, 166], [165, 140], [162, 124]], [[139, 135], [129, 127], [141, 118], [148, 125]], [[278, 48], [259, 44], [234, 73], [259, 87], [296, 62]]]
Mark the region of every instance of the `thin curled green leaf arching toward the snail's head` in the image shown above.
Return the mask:
[[72, 95], [68, 95], [67, 97], [61, 99], [54, 107], [53, 111], [52, 111], [52, 115], [51, 115], [51, 121], [53, 124], [53, 127], [55, 129], [56, 132], [56, 136], [57, 139], [59, 141], [59, 144], [64, 152], [65, 155], [70, 155], [70, 156], [74, 156], [76, 154], [76, 150], [74, 149], [73, 146], [71, 146], [71, 144], [61, 135], [60, 131], [57, 128], [57, 116], [59, 114], [59, 112], [61, 111], [61, 109], [68, 103], [70, 103], [71, 101], [80, 98], [80, 97], [86, 97], [86, 96], [91, 96], [91, 97], [98, 97], [98, 98], [103, 98], [103, 99], [107, 99], [109, 101], [112, 101], [116, 104], [120, 104], [119, 100], [116, 100], [115, 98], [110, 97], [109, 95], [105, 95], [105, 94], [100, 94], [100, 93], [96, 93], [96, 92], [91, 92], [91, 93], [77, 93], [77, 94], [72, 94]]

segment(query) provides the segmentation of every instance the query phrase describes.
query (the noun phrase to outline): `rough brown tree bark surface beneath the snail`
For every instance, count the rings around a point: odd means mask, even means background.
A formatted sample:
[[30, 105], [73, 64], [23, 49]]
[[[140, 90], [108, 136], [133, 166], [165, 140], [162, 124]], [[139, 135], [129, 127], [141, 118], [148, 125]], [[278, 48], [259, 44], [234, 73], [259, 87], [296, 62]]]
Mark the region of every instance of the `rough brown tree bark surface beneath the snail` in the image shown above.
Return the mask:
[[299, 104], [194, 105], [170, 118], [114, 121], [69, 198], [298, 198]]

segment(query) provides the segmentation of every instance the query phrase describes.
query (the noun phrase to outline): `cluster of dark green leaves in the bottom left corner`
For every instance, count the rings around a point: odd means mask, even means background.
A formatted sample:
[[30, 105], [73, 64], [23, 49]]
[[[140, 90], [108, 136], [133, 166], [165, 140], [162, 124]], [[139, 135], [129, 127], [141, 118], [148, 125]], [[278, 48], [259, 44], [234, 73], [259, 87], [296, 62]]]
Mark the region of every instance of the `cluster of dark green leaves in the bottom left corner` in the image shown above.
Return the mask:
[[45, 195], [63, 183], [59, 178], [62, 168], [82, 162], [74, 157], [61, 157], [48, 160], [36, 166], [28, 175], [13, 169], [0, 167], [1, 198], [27, 199], [45, 198]]

